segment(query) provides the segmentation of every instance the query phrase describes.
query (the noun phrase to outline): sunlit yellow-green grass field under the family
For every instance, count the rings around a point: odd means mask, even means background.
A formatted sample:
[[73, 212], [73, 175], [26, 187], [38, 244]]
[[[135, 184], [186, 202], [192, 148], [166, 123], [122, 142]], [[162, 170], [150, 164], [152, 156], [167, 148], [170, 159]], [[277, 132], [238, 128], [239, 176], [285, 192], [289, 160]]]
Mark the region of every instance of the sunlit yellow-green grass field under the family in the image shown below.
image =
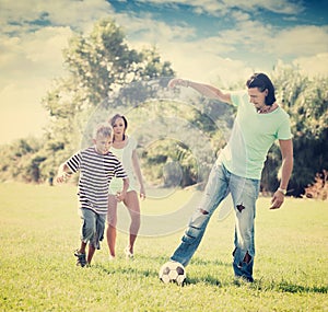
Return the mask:
[[[142, 209], [165, 211], [188, 196], [175, 192]], [[328, 311], [327, 203], [288, 198], [270, 211], [269, 198], [258, 200], [251, 285], [234, 284], [233, 216], [215, 213], [178, 287], [157, 271], [183, 230], [139, 238], [134, 261], [125, 259], [119, 232], [116, 262], [104, 241], [93, 265], [80, 268], [74, 186], [0, 184], [0, 311]]]

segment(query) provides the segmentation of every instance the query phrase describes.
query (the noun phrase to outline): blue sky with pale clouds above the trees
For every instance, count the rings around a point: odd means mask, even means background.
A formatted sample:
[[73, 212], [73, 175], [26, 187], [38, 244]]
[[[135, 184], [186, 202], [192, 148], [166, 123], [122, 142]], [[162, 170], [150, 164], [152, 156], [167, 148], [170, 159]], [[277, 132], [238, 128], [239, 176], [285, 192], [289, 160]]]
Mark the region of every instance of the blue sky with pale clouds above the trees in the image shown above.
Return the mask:
[[62, 49], [107, 16], [181, 78], [224, 89], [278, 63], [328, 76], [327, 0], [0, 0], [0, 145], [43, 134]]

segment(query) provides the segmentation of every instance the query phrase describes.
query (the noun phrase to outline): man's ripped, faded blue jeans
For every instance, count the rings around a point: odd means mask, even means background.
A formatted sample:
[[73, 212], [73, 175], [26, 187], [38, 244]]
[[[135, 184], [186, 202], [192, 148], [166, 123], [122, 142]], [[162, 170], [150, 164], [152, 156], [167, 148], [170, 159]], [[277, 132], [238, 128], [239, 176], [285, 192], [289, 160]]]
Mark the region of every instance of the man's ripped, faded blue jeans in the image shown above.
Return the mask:
[[179, 262], [184, 266], [189, 264], [204, 234], [211, 216], [219, 204], [231, 193], [235, 212], [233, 268], [235, 276], [253, 281], [255, 256], [254, 219], [259, 186], [259, 180], [234, 175], [224, 165], [215, 163], [200, 204], [189, 221], [180, 245], [171, 256], [171, 259]]

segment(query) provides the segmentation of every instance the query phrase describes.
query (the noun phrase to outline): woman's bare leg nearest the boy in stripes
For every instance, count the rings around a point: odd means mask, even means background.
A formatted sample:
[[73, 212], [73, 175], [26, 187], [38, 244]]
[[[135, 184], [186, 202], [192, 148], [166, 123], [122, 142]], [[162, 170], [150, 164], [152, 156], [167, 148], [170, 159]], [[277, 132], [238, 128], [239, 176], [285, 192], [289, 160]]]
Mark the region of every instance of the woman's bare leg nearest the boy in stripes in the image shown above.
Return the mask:
[[107, 211], [107, 244], [110, 257], [115, 257], [116, 245], [116, 223], [117, 223], [117, 199], [114, 195], [108, 196], [108, 211]]

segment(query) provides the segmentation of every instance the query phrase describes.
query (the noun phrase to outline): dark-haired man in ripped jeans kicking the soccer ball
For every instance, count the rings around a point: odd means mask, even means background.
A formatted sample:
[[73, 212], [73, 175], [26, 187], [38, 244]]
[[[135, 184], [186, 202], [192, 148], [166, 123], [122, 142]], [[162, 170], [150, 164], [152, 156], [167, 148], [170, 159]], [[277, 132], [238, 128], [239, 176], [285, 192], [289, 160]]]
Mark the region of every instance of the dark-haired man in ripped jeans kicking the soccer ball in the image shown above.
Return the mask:
[[282, 155], [282, 173], [270, 209], [280, 208], [283, 204], [293, 169], [289, 115], [276, 102], [274, 86], [265, 73], [255, 73], [247, 80], [247, 92], [225, 93], [212, 85], [184, 79], [168, 82], [169, 88], [177, 85], [190, 86], [204, 96], [233, 104], [237, 106], [237, 115], [231, 138], [210, 173], [203, 197], [171, 259], [188, 265], [212, 213], [231, 193], [235, 212], [234, 274], [253, 282], [256, 200], [267, 153], [277, 139]]

